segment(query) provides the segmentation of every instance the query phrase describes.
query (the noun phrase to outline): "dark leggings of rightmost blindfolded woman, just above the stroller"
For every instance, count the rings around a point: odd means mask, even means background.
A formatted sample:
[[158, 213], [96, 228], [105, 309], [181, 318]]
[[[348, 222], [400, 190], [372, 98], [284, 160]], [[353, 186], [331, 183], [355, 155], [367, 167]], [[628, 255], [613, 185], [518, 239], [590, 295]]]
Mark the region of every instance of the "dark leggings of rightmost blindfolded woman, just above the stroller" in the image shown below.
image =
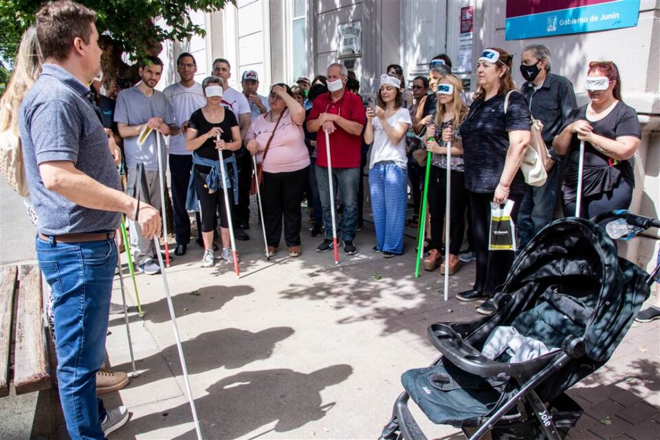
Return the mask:
[[[632, 201], [632, 182], [621, 177], [614, 188], [608, 192], [600, 192], [589, 197], [582, 197], [580, 206], [580, 217], [591, 219], [604, 212], [628, 209]], [[565, 217], [575, 217], [575, 199], [566, 201], [562, 195], [562, 206]], [[605, 219], [601, 224], [606, 224], [610, 219]]]

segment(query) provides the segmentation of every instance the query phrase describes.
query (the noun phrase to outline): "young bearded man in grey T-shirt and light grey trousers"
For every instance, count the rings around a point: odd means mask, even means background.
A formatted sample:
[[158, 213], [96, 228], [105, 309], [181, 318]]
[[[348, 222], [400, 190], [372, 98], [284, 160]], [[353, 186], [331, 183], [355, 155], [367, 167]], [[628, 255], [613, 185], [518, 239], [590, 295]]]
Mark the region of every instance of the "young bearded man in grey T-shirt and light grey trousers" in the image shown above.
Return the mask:
[[[156, 209], [160, 209], [162, 188], [158, 174], [157, 136], [160, 136], [161, 140], [160, 153], [163, 173], [165, 173], [167, 159], [165, 141], [162, 136], [175, 135], [179, 133], [179, 128], [175, 126], [170, 102], [162, 91], [154, 89], [162, 75], [163, 62], [156, 56], [147, 56], [146, 61], [137, 72], [142, 81], [135, 87], [120, 91], [115, 107], [117, 129], [120, 136], [124, 138], [124, 155], [128, 173], [126, 193], [133, 195], [135, 185], [140, 184], [137, 164], [142, 163], [146, 174], [148, 197], [150, 197], [151, 204]], [[140, 146], [137, 140], [145, 127], [152, 131]], [[135, 222], [130, 222], [130, 229], [131, 250], [133, 250], [133, 261], [135, 261], [137, 269], [149, 275], [159, 273], [156, 252], [160, 251], [155, 248], [153, 241], [142, 238], [140, 227]]]

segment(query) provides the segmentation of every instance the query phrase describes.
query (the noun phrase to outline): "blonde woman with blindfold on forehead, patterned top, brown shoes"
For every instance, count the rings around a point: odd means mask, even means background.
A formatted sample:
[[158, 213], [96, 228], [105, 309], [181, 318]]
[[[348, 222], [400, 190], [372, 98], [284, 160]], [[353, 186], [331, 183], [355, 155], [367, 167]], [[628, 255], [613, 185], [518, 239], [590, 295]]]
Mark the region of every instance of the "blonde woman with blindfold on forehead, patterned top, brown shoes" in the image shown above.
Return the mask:
[[[463, 162], [463, 142], [460, 126], [467, 115], [467, 105], [461, 100], [463, 85], [453, 75], [445, 75], [436, 87], [437, 111], [435, 120], [428, 127], [426, 149], [432, 154], [428, 181], [428, 208], [431, 214], [430, 253], [424, 259], [425, 270], [435, 270], [442, 261], [443, 217], [447, 203], [450, 205], [450, 236], [445, 239], [449, 246], [449, 261], [442, 263], [440, 270], [453, 275], [461, 266], [459, 253], [465, 232], [465, 208], [467, 191], [465, 190], [465, 164]], [[433, 136], [433, 138], [431, 138]], [[452, 142], [451, 164], [447, 163], [447, 142]], [[447, 169], [450, 167], [451, 194], [447, 193]]]

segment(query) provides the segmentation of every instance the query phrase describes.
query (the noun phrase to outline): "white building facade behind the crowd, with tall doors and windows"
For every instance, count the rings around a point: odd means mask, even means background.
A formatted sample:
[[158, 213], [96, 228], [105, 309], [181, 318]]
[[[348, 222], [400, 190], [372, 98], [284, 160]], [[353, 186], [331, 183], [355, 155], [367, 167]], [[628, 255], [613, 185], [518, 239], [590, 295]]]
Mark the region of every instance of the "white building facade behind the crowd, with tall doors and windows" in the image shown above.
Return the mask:
[[[465, 9], [470, 6], [471, 11]], [[193, 14], [206, 36], [166, 47], [162, 57], [169, 65], [162, 87], [177, 80], [174, 63], [184, 51], [197, 58], [198, 80], [219, 57], [230, 61], [230, 85], [237, 89], [242, 72], [256, 70], [262, 95], [274, 83], [325, 74], [329, 63], [339, 61], [355, 72], [363, 96], [375, 91], [387, 65], [401, 65], [409, 83], [428, 73], [433, 56], [445, 53], [454, 62], [454, 73], [474, 91], [473, 61], [485, 47], [504, 48], [518, 65], [523, 47], [544, 44], [552, 52], [552, 71], [573, 82], [578, 104], [584, 104], [589, 61], [615, 61], [624, 100], [637, 109], [643, 124], [631, 210], [659, 217], [660, 0], [641, 0], [632, 28], [510, 41], [505, 39], [506, 8], [506, 0], [238, 0], [221, 12]], [[465, 28], [467, 15], [471, 34]], [[518, 69], [514, 78], [522, 84]], [[659, 236], [657, 230], [646, 232], [622, 252], [648, 266]]]

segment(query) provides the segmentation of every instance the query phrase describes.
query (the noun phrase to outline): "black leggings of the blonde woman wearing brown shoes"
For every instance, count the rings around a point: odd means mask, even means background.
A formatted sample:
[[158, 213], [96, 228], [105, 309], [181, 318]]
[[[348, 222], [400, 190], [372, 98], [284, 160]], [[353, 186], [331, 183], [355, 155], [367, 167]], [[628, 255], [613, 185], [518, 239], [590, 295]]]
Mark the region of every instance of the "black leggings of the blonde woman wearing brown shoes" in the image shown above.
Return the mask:
[[[463, 232], [465, 232], [467, 190], [465, 189], [464, 173], [452, 171], [450, 177], [452, 179], [452, 193], [450, 194], [449, 253], [458, 255], [461, 252]], [[428, 211], [431, 214], [431, 249], [440, 250], [442, 246], [446, 195], [447, 170], [439, 166], [431, 166], [428, 179]]]

